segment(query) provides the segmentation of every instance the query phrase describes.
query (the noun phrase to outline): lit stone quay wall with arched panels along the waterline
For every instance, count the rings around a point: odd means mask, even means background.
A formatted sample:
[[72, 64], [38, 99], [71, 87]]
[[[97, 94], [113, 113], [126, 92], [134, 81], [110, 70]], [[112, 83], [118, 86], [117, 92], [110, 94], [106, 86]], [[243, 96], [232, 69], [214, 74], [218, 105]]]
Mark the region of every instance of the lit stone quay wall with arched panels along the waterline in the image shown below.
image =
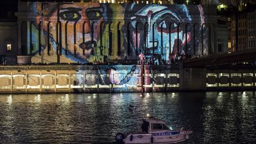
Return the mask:
[[0, 66], [0, 93], [256, 89], [255, 66], [183, 68], [182, 65]]

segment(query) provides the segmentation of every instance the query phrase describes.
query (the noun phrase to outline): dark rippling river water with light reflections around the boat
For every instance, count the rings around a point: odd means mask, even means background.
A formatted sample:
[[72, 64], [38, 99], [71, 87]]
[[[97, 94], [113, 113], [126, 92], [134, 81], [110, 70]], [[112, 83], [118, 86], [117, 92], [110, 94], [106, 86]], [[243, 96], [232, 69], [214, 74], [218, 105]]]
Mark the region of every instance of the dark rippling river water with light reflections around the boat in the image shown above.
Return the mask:
[[256, 143], [252, 91], [0, 95], [0, 143], [113, 143], [154, 111], [193, 128], [185, 143]]

